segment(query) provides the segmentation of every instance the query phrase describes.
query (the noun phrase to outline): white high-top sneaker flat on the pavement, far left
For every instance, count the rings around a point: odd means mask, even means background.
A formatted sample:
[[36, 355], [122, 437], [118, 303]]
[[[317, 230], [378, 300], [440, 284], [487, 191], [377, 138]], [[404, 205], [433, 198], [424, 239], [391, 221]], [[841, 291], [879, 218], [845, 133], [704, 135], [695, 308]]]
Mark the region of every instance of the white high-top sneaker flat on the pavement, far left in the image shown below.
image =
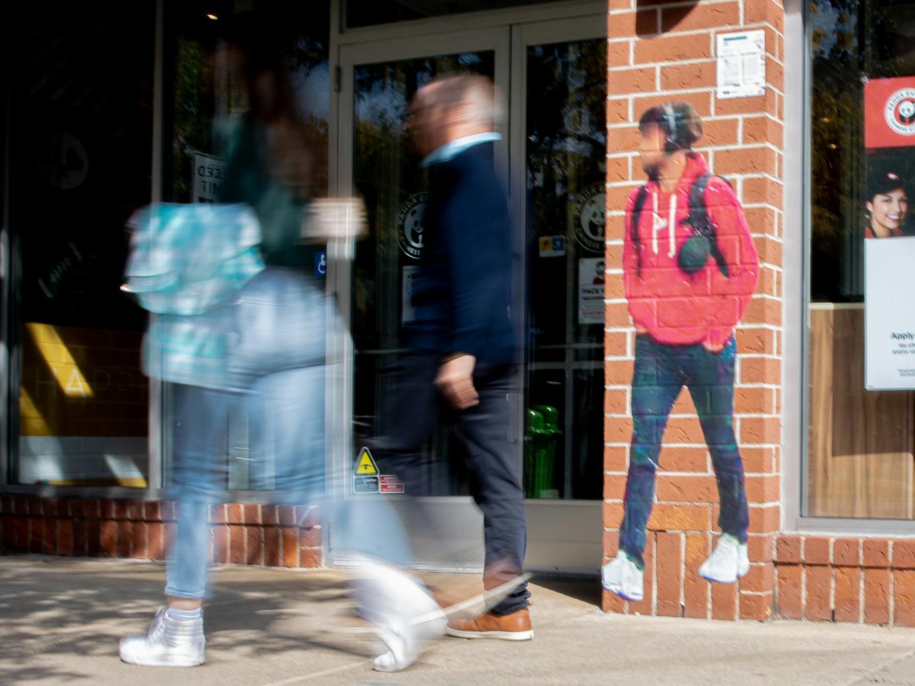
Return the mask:
[[135, 665], [194, 667], [206, 662], [203, 617], [176, 619], [159, 607], [145, 636], [121, 639], [121, 659]]

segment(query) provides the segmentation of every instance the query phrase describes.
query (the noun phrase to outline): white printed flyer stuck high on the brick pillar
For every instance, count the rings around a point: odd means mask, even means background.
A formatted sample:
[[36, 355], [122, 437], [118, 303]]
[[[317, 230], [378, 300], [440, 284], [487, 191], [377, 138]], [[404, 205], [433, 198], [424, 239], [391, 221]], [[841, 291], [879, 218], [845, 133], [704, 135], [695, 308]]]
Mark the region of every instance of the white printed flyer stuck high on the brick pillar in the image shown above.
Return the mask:
[[766, 92], [766, 32], [718, 34], [717, 96], [752, 98]]

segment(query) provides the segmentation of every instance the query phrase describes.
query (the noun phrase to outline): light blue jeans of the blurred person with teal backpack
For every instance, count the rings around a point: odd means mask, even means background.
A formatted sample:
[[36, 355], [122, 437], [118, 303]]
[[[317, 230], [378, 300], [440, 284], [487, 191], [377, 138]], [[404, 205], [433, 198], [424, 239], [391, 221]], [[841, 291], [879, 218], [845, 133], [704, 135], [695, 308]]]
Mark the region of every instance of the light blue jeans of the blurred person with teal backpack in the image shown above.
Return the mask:
[[[290, 505], [317, 504], [322, 496], [325, 299], [287, 270], [267, 270], [255, 286], [247, 291], [250, 300], [235, 308], [244, 353], [229, 364], [231, 391], [171, 387], [170, 492], [178, 502], [178, 536], [166, 595], [206, 595], [209, 508], [228, 486], [232, 408], [249, 417], [251, 488], [281, 492], [272, 499]], [[270, 302], [270, 294], [282, 302]]]

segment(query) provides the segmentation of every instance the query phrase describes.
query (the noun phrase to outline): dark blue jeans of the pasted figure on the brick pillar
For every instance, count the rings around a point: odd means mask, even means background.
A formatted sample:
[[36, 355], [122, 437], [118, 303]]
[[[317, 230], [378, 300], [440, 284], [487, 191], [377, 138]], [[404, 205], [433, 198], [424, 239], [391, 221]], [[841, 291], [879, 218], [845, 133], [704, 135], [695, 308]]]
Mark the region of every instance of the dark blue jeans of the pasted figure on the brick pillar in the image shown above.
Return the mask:
[[632, 444], [626, 481], [619, 548], [644, 564], [645, 528], [654, 501], [654, 475], [667, 418], [680, 390], [693, 398], [721, 501], [718, 526], [747, 541], [749, 515], [743, 461], [734, 435], [734, 366], [737, 343], [732, 337], [718, 353], [701, 344], [668, 345], [648, 336], [636, 338], [632, 374]]

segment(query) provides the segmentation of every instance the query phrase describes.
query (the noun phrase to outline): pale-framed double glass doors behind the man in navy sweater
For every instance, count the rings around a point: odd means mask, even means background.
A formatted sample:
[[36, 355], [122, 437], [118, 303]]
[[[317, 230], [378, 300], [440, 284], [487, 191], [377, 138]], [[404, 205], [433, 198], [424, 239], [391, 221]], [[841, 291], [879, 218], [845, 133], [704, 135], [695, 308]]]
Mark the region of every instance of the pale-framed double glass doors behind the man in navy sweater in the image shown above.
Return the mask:
[[[407, 103], [437, 74], [485, 74], [509, 102], [494, 164], [510, 184], [513, 309], [522, 313], [525, 343], [523, 402], [508, 430], [523, 461], [527, 563], [534, 569], [592, 572], [600, 563], [605, 21], [596, 14], [340, 48], [338, 191], [365, 199], [370, 234], [328, 246], [328, 276], [350, 332], [337, 348], [347, 361], [328, 405], [328, 436], [335, 442], [330, 468], [342, 475], [335, 488], [362, 508], [372, 498], [398, 498], [353, 494], [351, 474], [361, 442], [380, 428], [385, 399], [397, 392], [380, 372], [395, 359], [399, 333], [409, 326], [405, 294], [423, 249], [426, 186], [408, 154]], [[458, 552], [435, 560], [432, 548], [415, 551], [418, 566], [482, 562], [481, 521], [467, 495], [461, 456], [444, 429], [426, 446], [428, 488], [421, 495], [435, 501], [430, 511], [458, 541]], [[411, 534], [422, 541], [422, 531]], [[331, 534], [331, 557], [333, 545]]]

